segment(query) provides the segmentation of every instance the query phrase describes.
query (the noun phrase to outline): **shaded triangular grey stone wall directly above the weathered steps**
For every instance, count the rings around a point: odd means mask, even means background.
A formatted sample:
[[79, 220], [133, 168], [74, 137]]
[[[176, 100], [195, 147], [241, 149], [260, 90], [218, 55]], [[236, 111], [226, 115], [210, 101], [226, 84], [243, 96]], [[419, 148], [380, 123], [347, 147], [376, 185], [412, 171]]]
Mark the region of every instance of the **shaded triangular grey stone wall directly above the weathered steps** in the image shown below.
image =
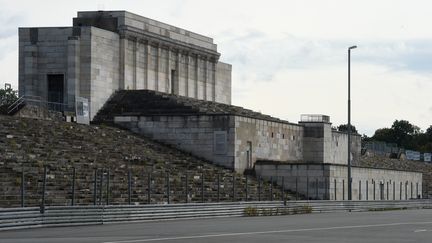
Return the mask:
[[233, 116], [121, 116], [114, 122], [215, 164], [234, 167]]

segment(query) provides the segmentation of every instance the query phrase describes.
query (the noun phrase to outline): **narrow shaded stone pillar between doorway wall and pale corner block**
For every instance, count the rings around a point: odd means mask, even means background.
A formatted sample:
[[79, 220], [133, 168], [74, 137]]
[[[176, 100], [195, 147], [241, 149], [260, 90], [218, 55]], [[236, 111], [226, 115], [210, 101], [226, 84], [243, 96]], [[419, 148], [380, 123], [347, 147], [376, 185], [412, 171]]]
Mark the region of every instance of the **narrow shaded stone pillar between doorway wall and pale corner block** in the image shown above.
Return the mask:
[[67, 96], [65, 103], [69, 110], [75, 107], [75, 97], [80, 96], [80, 38], [68, 38], [67, 49]]

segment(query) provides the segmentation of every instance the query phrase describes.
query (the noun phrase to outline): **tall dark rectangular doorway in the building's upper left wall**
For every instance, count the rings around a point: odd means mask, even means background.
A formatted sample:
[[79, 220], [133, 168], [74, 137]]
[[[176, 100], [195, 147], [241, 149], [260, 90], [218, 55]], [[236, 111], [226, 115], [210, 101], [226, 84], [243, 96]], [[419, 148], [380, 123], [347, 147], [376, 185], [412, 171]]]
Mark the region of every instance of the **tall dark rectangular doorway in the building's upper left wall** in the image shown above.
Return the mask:
[[63, 109], [64, 75], [48, 74], [48, 107], [53, 110]]

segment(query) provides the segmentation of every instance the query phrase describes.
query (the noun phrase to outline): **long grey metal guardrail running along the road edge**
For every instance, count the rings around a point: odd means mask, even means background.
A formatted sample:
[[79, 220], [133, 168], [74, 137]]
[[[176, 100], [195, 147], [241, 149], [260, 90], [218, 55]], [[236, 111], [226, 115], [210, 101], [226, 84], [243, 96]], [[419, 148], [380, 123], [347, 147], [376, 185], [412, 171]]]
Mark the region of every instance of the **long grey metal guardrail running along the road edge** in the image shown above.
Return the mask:
[[[41, 213], [39, 207], [0, 208], [0, 230], [152, 220], [240, 217], [247, 216], [248, 210], [255, 210], [258, 212], [256, 215], [278, 215], [278, 212], [294, 214], [297, 212], [318, 213], [415, 208], [432, 208], [432, 200], [287, 201], [285, 205], [283, 201], [267, 201], [127, 206], [52, 206], [46, 207], [44, 213]], [[298, 209], [304, 211], [297, 211]]]

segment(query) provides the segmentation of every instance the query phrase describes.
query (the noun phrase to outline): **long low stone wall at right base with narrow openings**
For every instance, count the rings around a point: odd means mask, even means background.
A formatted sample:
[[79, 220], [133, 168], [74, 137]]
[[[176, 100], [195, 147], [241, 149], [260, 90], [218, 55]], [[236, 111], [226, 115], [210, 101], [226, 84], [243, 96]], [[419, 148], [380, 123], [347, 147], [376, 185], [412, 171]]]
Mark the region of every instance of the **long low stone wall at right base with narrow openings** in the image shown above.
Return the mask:
[[[267, 180], [273, 177], [280, 185], [284, 177], [285, 188], [298, 191], [308, 198], [348, 198], [348, 172], [345, 165], [259, 162], [256, 164], [256, 173]], [[352, 167], [352, 179], [353, 200], [408, 200], [422, 197], [422, 174], [418, 172]]]

